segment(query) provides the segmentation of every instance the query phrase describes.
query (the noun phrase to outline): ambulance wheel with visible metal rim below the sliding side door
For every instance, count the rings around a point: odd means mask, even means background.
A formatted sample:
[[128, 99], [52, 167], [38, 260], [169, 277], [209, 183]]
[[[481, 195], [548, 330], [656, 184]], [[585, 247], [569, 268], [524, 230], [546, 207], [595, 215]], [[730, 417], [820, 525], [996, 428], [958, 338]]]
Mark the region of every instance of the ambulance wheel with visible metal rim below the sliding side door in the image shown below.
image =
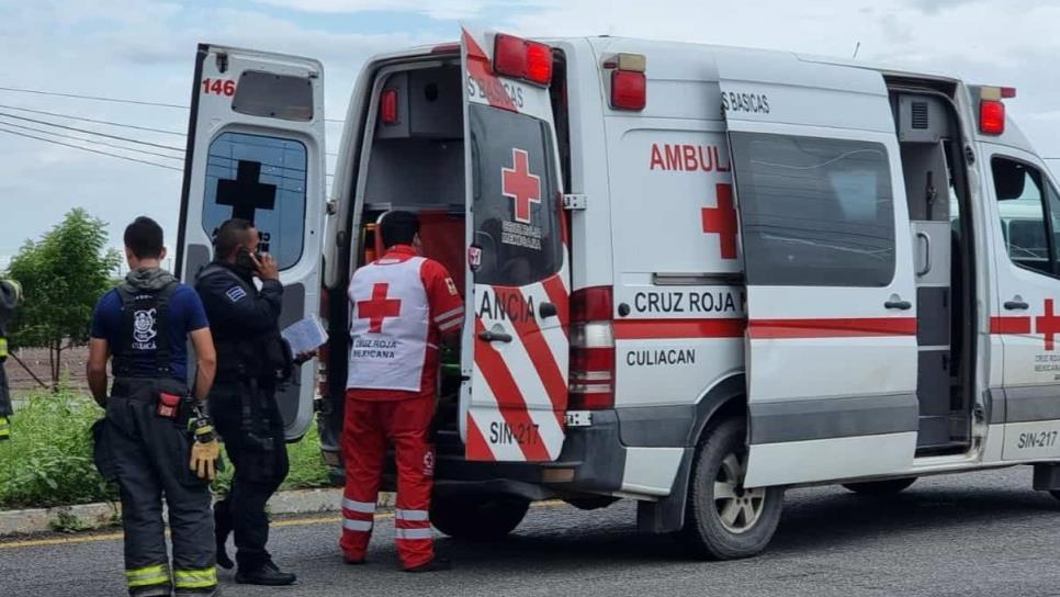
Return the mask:
[[[740, 418], [724, 419], [703, 431], [688, 483], [685, 527], [677, 533], [695, 557], [751, 557], [766, 549], [777, 530], [783, 488], [743, 488], [746, 438], [746, 424]], [[722, 486], [730, 487], [731, 497], [714, 495], [715, 487]]]

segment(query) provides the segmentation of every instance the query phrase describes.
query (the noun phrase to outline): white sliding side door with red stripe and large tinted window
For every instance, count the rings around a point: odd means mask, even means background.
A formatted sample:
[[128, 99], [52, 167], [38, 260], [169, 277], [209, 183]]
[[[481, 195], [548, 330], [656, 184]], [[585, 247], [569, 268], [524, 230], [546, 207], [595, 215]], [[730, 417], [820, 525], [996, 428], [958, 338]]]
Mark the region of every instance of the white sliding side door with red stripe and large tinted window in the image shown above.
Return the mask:
[[916, 289], [883, 79], [774, 53], [723, 52], [718, 69], [747, 284], [745, 485], [906, 471]]

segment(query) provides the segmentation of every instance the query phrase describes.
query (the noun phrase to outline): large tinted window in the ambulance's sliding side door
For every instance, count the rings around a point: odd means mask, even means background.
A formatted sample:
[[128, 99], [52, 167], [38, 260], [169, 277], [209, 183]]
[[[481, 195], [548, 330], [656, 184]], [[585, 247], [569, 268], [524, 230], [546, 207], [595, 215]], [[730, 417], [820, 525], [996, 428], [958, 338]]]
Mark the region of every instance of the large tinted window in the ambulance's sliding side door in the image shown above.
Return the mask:
[[886, 286], [894, 201], [878, 143], [733, 133], [747, 282]]

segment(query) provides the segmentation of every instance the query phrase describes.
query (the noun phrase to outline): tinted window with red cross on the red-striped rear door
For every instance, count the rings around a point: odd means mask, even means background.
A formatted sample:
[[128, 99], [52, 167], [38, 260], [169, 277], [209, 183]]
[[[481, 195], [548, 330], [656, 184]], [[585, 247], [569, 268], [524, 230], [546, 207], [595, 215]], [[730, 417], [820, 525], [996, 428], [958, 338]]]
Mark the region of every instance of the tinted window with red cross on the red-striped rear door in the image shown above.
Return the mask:
[[480, 104], [470, 105], [469, 112], [473, 245], [482, 251], [475, 282], [521, 286], [549, 278], [563, 261], [549, 127]]

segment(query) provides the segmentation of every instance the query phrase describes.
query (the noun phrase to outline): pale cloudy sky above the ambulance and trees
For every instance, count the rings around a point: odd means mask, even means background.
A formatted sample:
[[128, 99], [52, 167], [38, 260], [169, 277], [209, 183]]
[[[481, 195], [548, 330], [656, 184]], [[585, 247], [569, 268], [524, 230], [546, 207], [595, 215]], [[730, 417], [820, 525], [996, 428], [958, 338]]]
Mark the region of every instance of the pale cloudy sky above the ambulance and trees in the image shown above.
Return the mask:
[[[860, 42], [858, 59], [1018, 88], [1010, 114], [1042, 156], [1060, 157], [1060, 0], [0, 0], [0, 87], [187, 105], [195, 44], [210, 42], [322, 59], [326, 112], [340, 119], [369, 56], [455, 41], [460, 20], [525, 35], [608, 34], [843, 57]], [[84, 144], [13, 128], [10, 124], [57, 131], [2, 114], [166, 146], [182, 147], [183, 137], [10, 106], [178, 133], [188, 119], [182, 109], [0, 91], [0, 123], [9, 123], [0, 128], [79, 145]], [[329, 123], [330, 138], [340, 128]], [[181, 167], [180, 159], [95, 147]], [[334, 169], [334, 158], [328, 166]], [[115, 245], [122, 227], [139, 214], [161, 222], [171, 240], [179, 201], [179, 171], [0, 132], [0, 267], [26, 238], [36, 238], [75, 206], [109, 222]]]

